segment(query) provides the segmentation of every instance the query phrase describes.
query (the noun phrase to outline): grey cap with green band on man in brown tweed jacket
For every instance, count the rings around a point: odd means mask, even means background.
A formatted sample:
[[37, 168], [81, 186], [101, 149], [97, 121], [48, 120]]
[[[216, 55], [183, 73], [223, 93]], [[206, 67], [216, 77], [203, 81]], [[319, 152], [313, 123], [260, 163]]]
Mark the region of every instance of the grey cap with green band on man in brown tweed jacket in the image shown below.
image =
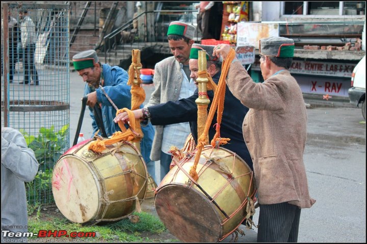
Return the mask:
[[259, 53], [270, 57], [293, 57], [294, 41], [285, 37], [269, 37], [259, 40]]

